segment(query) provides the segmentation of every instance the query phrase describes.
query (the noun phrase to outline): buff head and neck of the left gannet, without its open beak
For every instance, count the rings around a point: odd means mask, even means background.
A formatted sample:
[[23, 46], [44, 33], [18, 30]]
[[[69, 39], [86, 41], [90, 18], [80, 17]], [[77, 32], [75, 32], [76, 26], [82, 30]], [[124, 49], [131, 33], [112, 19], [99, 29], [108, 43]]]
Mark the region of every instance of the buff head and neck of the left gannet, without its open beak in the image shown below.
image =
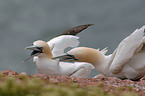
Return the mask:
[[53, 55], [51, 53], [51, 50], [50, 50], [50, 47], [49, 45], [45, 42], [45, 41], [42, 41], [42, 40], [37, 40], [33, 43], [35, 46], [38, 46], [38, 47], [43, 47], [43, 55], [39, 55], [38, 57], [48, 57], [48, 58], [52, 58]]

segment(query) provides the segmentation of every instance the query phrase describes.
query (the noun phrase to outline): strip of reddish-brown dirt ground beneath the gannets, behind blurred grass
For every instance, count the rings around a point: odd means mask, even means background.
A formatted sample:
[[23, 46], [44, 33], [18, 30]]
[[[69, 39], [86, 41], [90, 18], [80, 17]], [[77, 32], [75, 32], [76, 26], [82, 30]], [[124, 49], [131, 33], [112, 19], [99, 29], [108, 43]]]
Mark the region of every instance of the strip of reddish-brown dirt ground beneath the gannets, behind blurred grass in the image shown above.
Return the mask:
[[[145, 96], [145, 77], [143, 77], [140, 81], [131, 81], [131, 80], [120, 80], [116, 77], [105, 77], [101, 74], [97, 75], [96, 78], [75, 78], [68, 76], [46, 76], [43, 74], [34, 74], [27, 75], [25, 72], [18, 74], [16, 71], [5, 70], [0, 71], [3, 73], [5, 77], [7, 76], [15, 76], [16, 78], [19, 75], [25, 75], [28, 78], [38, 77], [43, 80], [49, 81], [52, 84], [64, 83], [68, 84], [71, 82], [76, 83], [79, 87], [84, 88], [87, 86], [98, 86], [101, 87], [104, 91], [107, 92], [120, 92], [122, 91], [133, 91], [138, 95]], [[20, 79], [20, 78], [18, 78]]]

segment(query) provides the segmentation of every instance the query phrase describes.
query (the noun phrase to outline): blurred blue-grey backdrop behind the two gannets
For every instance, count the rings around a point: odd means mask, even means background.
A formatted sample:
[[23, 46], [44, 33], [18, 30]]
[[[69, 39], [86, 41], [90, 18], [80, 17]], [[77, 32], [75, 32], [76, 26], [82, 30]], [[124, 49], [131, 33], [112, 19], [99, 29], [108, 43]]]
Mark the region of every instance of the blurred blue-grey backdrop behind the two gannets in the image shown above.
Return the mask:
[[77, 35], [80, 46], [107, 46], [110, 54], [145, 25], [145, 0], [0, 0], [0, 71], [36, 74], [32, 59], [22, 63], [26, 46], [88, 23], [94, 25]]

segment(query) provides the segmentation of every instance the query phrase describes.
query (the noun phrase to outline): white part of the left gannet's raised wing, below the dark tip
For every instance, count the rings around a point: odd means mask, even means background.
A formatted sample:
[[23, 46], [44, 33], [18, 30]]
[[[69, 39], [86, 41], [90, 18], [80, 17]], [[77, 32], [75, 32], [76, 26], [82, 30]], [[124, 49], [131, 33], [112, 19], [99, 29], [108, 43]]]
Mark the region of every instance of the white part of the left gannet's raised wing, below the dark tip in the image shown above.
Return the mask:
[[79, 45], [79, 37], [72, 35], [61, 35], [47, 42], [52, 50], [54, 57], [64, 53], [64, 49], [68, 47], [76, 47]]

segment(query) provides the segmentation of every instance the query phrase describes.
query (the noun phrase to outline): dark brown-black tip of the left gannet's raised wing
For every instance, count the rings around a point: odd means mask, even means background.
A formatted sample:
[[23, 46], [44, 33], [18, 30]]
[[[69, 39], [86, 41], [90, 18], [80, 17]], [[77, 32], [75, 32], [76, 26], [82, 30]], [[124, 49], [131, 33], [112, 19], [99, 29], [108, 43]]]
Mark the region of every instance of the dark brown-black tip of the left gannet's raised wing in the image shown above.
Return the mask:
[[[79, 25], [77, 27], [68, 29], [64, 32], [62, 32], [60, 35], [77, 35], [78, 33], [80, 33], [81, 31], [85, 30], [86, 28], [88, 28], [89, 26], [92, 26], [94, 24], [85, 24], [85, 25]], [[58, 36], [60, 36], [58, 35]]]

